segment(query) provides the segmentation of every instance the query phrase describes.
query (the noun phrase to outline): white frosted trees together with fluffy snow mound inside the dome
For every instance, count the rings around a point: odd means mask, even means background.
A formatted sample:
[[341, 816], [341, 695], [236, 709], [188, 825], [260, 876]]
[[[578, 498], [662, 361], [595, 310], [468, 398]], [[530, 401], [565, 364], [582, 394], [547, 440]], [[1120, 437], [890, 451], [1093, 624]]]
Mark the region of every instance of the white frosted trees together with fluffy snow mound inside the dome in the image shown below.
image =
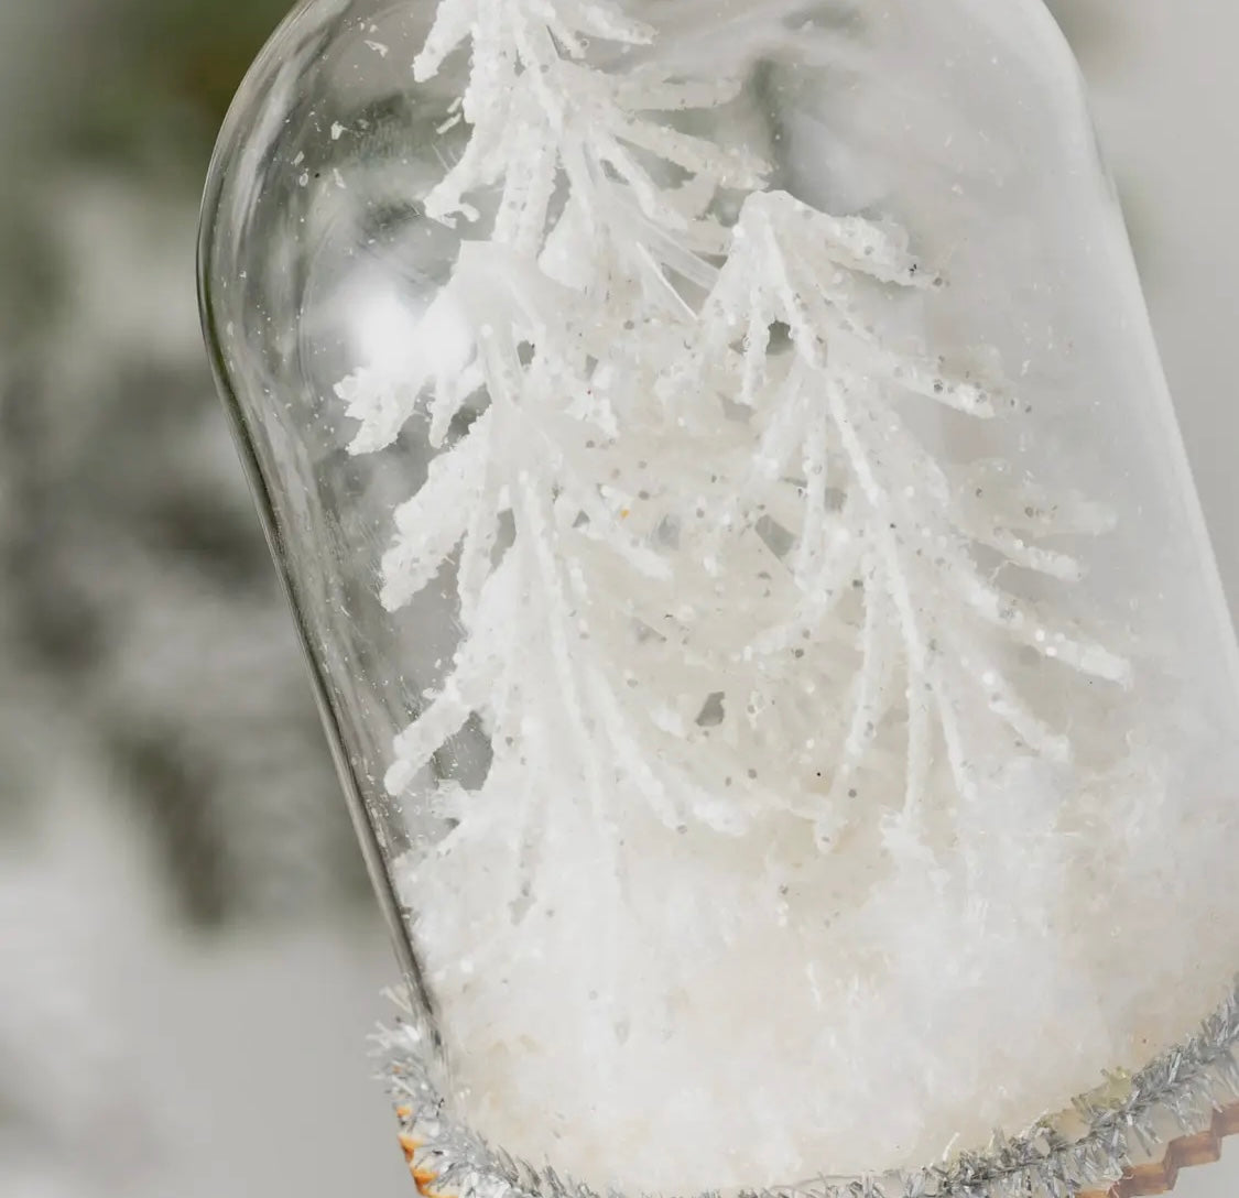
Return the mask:
[[451, 830], [403, 877], [475, 1122], [592, 1182], [771, 1184], [1137, 1063], [1156, 1012], [1097, 920], [1146, 878], [1093, 891], [1186, 813], [1140, 647], [1070, 597], [1104, 497], [918, 436], [927, 405], [960, 439], [1027, 419], [1018, 383], [928, 339], [949, 276], [907, 232], [652, 115], [737, 81], [610, 77], [582, 43], [653, 31], [558, 0], [447, 0], [418, 78], [470, 36], [471, 140], [425, 207], [498, 190], [493, 229], [404, 368], [341, 395], [354, 450], [421, 403], [442, 448], [383, 600], [451, 560], [461, 643], [387, 784], [481, 720], [486, 780], [439, 787]]

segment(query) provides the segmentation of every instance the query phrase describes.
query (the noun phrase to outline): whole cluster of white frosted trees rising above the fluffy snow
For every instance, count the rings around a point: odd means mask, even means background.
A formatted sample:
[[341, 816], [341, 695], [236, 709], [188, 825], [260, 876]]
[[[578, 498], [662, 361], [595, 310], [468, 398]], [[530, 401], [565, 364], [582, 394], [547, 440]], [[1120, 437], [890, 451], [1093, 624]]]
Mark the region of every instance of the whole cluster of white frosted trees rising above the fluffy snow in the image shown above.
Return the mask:
[[[760, 162], [647, 116], [725, 105], [736, 84], [590, 68], [589, 37], [653, 37], [618, 9], [445, 0], [418, 78], [468, 37], [461, 115], [473, 131], [425, 211], [477, 221], [466, 197], [497, 187], [493, 227], [463, 244], [403, 359], [411, 373], [362, 370], [339, 388], [362, 420], [356, 452], [389, 444], [422, 400], [441, 447], [482, 396], [396, 513], [383, 561], [395, 611], [455, 559], [463, 628], [451, 678], [396, 742], [389, 789], [473, 712], [496, 747], [492, 778], [520, 759], [545, 794], [575, 753], [570, 785], [585, 782], [607, 828], [612, 763], [673, 826], [696, 815], [736, 831], [742, 811], [762, 810], [835, 826], [892, 724], [904, 727], [909, 813], [934, 727], [964, 794], [992, 720], [1016, 733], [1012, 752], [1066, 761], [1070, 746], [1021, 696], [1006, 647], [1114, 683], [1127, 665], [1001, 591], [971, 550], [1069, 582], [1079, 564], [1038, 539], [1098, 534], [1108, 518], [1012, 484], [1001, 462], [961, 477], [904, 426], [897, 395], [978, 420], [1012, 406], [989, 380], [866, 331], [859, 285], [943, 280], [897, 228], [760, 191]], [[686, 182], [672, 186], [676, 170]], [[716, 214], [729, 192], [751, 192], [730, 229]], [[790, 333], [773, 352], [772, 330]], [[514, 534], [501, 549], [504, 517]], [[737, 577], [757, 580], [760, 601], [731, 588], [719, 605], [717, 580]], [[804, 726], [769, 715], [772, 690], [789, 685], [818, 696]], [[838, 737], [805, 735], [831, 719]], [[690, 761], [696, 732], [725, 721], [748, 725], [733, 753], [717, 754], [716, 733], [711, 763]], [[719, 778], [751, 780], [741, 763], [755, 753], [813, 763], [830, 784], [793, 771], [721, 799]]]

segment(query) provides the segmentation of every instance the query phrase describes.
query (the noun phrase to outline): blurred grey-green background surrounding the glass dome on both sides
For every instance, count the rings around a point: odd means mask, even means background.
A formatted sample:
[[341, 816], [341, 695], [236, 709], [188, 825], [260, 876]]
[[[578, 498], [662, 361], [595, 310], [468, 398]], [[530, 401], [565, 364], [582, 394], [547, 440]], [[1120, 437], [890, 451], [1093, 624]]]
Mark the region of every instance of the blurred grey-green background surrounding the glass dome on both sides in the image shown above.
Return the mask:
[[[1057, 0], [1233, 601], [1239, 6]], [[396, 977], [201, 349], [284, 0], [0, 0], [0, 1196], [408, 1194]], [[1239, 1147], [1184, 1174], [1234, 1193]]]

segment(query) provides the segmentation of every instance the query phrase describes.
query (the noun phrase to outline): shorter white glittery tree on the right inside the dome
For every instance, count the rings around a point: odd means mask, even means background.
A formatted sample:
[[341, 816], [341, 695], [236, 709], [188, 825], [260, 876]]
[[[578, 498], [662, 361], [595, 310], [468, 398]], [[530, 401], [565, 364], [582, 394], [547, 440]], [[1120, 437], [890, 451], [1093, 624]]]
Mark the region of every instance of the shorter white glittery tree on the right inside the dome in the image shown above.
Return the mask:
[[[753, 535], [763, 514], [777, 514], [793, 543], [784, 566], [799, 600], [745, 647], [747, 660], [760, 659], [767, 676], [784, 674], [788, 650], [808, 641], [818, 652], [807, 657], [799, 648], [789, 669], [829, 691], [839, 678], [829, 647], [843, 636], [859, 650], [829, 754], [824, 840], [845, 811], [855, 814], [847, 800], [857, 798], [856, 772], [892, 731], [902, 735], [904, 815], [913, 820], [938, 733], [954, 787], [969, 798], [986, 772], [992, 780], [1004, 761], [1025, 752], [1057, 764], [1070, 759], [1062, 728], [1023, 695], [1020, 676], [1030, 668], [1012, 649], [1057, 659], [1085, 678], [1130, 680], [1124, 658], [1004, 591], [974, 551], [986, 546], [1010, 566], [1070, 584], [1080, 564], [1041, 541], [1104, 533], [1106, 513], [1079, 497], [1052, 508], [1040, 497], [1033, 507], [1027, 484], [1012, 486], [1001, 463], [971, 468], [978, 478], [986, 473], [983, 488], [937, 461], [909, 430], [901, 400], [976, 420], [1016, 405], [997, 380], [892, 351], [856, 301], [859, 279], [942, 285], [908, 254], [900, 230], [838, 219], [782, 192], [751, 196], [696, 342], [662, 380], [664, 394], [686, 405], [721, 391], [755, 410], [760, 435], [716, 513], [711, 545], [737, 530]], [[790, 347], [772, 354], [779, 326]], [[712, 549], [707, 561], [733, 570]]]

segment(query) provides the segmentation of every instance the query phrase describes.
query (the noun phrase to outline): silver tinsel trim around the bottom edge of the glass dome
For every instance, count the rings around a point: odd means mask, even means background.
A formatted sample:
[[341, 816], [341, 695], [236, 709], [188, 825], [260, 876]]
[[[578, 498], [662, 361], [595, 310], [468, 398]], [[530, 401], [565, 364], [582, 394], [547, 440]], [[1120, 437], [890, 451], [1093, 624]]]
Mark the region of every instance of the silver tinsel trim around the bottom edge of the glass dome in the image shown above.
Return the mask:
[[[400, 1119], [400, 1145], [421, 1198], [618, 1198], [493, 1148], [451, 1117], [435, 1080], [431, 1036], [408, 1003], [377, 1036]], [[1178, 1171], [1215, 1161], [1239, 1134], [1239, 980], [1184, 1043], [1139, 1073], [1113, 1075], [1067, 1113], [1014, 1137], [996, 1132], [912, 1172], [820, 1177], [741, 1198], [1139, 1198]], [[700, 1198], [717, 1198], [704, 1194]]]

